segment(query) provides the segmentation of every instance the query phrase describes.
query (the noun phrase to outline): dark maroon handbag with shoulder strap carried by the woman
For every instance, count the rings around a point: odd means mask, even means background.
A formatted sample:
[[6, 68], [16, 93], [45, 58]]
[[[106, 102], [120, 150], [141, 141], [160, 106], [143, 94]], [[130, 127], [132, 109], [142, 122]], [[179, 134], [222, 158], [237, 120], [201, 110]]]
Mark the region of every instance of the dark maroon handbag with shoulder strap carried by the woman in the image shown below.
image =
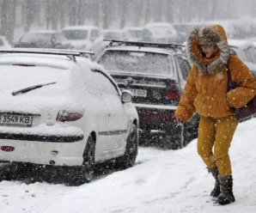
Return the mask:
[[[235, 82], [232, 82], [229, 66], [227, 66], [227, 73], [228, 73], [228, 92], [231, 89], [236, 88], [238, 85]], [[254, 113], [256, 113], [256, 95], [253, 97], [252, 100], [250, 100], [246, 106], [241, 107], [239, 109], [234, 108], [234, 115], [235, 119], [242, 120], [247, 119], [248, 117], [252, 116]]]

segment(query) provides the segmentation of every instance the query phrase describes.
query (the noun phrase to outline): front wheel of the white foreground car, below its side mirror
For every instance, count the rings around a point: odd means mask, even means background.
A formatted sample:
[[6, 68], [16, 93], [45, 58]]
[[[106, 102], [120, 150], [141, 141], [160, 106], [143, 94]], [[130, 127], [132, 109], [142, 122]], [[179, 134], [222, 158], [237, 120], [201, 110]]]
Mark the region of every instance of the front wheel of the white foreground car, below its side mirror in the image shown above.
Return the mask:
[[118, 165], [121, 168], [133, 167], [137, 157], [137, 126], [132, 124], [131, 131], [126, 140], [125, 155], [119, 158]]

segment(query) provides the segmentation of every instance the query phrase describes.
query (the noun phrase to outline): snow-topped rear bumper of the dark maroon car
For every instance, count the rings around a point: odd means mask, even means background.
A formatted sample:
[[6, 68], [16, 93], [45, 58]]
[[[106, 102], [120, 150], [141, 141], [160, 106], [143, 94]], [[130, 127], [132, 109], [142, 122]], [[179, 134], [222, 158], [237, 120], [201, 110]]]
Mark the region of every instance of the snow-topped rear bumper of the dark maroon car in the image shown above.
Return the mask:
[[174, 112], [175, 106], [134, 104], [140, 122], [140, 129], [165, 130], [173, 127], [176, 123]]

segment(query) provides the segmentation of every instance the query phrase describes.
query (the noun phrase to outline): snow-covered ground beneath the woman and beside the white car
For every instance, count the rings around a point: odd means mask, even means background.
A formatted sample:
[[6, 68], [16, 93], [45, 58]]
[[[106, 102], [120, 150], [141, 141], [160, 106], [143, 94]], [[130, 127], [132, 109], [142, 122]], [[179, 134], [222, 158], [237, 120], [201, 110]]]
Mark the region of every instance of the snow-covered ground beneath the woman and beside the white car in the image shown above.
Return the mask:
[[0, 183], [1, 213], [255, 213], [256, 119], [239, 125], [231, 146], [236, 202], [214, 206], [213, 178], [197, 151], [140, 148], [137, 165], [82, 186]]

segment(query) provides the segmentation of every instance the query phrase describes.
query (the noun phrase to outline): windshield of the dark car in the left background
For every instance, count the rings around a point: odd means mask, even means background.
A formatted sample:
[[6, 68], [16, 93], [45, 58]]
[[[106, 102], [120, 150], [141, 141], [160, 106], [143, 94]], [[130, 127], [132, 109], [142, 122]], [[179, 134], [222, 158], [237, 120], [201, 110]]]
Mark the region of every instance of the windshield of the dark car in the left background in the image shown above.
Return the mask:
[[21, 43], [51, 43], [52, 33], [27, 33], [20, 40]]

